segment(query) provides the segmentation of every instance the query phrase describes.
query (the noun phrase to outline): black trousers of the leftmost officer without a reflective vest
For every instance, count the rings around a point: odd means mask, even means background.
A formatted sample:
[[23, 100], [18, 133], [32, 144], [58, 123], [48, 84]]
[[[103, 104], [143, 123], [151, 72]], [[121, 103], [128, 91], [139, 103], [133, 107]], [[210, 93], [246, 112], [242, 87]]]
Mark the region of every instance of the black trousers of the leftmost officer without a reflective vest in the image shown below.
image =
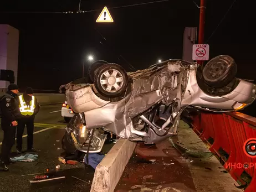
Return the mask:
[[12, 146], [15, 143], [16, 128], [17, 126], [11, 126], [11, 124], [1, 123], [3, 129], [3, 142], [1, 148], [1, 160], [4, 163], [8, 163], [10, 159], [10, 153]]

